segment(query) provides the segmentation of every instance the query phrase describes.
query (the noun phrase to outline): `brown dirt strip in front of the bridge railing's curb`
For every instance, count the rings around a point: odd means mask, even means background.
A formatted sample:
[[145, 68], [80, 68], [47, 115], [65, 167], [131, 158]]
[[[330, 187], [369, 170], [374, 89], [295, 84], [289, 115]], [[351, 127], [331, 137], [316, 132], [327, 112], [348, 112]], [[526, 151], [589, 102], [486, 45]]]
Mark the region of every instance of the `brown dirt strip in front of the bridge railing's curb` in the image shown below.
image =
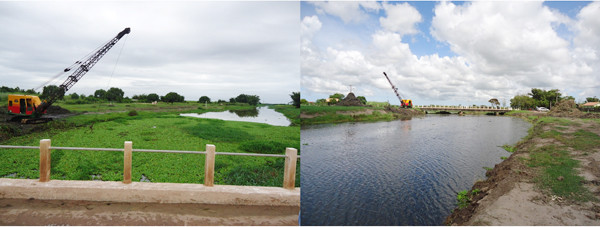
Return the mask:
[[298, 225], [298, 207], [0, 199], [0, 225]]

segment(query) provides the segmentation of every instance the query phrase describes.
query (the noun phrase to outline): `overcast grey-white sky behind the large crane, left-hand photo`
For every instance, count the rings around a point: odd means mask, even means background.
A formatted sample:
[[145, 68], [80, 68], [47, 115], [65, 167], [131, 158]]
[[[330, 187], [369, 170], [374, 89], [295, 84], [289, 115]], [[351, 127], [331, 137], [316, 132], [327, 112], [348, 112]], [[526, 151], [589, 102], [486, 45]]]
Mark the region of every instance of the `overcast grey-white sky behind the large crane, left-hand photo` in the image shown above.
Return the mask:
[[299, 2], [1, 1], [0, 86], [36, 88], [131, 27], [68, 93], [287, 103], [300, 90], [299, 14]]

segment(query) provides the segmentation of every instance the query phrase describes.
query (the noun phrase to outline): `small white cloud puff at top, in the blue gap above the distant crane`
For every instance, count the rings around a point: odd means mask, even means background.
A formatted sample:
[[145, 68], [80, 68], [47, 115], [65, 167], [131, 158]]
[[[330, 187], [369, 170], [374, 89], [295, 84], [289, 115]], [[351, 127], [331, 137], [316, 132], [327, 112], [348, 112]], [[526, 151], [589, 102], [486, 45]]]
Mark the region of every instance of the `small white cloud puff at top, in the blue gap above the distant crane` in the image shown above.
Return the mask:
[[396, 32], [400, 36], [405, 34], [416, 34], [419, 31], [415, 27], [422, 22], [423, 18], [417, 9], [408, 3], [383, 4], [387, 17], [379, 18], [381, 27], [385, 30]]

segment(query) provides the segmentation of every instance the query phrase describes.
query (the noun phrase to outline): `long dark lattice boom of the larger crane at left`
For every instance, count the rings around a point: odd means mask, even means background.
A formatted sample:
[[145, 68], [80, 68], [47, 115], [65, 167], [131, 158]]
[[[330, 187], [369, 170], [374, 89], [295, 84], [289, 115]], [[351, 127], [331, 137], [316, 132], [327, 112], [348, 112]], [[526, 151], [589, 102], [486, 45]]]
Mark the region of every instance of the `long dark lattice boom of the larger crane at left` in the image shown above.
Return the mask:
[[[94, 65], [115, 45], [117, 44], [117, 42], [123, 38], [123, 36], [125, 36], [126, 34], [129, 34], [129, 32], [131, 32], [130, 28], [125, 28], [123, 29], [123, 31], [119, 32], [119, 34], [117, 34], [117, 36], [115, 36], [114, 38], [112, 38], [110, 41], [108, 41], [108, 43], [106, 43], [104, 46], [102, 46], [98, 51], [96, 51], [94, 54], [92, 54], [90, 57], [88, 57], [86, 60], [84, 60], [83, 62], [81, 62], [81, 65], [69, 76], [67, 77], [67, 79], [65, 80], [65, 82], [63, 82], [59, 88], [62, 91], [59, 91], [62, 94], [51, 94], [46, 100], [44, 100], [44, 102], [42, 102], [42, 104], [40, 104], [40, 106], [38, 106], [35, 110], [35, 113], [38, 115], [41, 115], [42, 113], [44, 113], [44, 111], [46, 111], [48, 109], [48, 107], [50, 107], [50, 105], [52, 105], [52, 103], [56, 102], [56, 100], [59, 99], [59, 97], [61, 97], [61, 95], [64, 95], [69, 89], [71, 89], [71, 87], [73, 87], [73, 85], [75, 83], [77, 83], [77, 81], [79, 81], [81, 79], [81, 77], [83, 77], [88, 71], [90, 71], [90, 69], [92, 67], [94, 67]], [[69, 69], [65, 69], [65, 72], [69, 71]]]

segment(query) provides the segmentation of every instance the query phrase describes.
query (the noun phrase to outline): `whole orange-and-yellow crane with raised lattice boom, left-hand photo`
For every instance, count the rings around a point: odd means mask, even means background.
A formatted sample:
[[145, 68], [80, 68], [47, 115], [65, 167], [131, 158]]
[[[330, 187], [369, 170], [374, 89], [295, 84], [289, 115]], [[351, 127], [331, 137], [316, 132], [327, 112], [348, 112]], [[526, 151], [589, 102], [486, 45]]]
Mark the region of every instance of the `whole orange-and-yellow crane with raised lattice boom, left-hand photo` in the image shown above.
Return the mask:
[[[73, 87], [77, 81], [83, 77], [117, 42], [126, 34], [129, 34], [130, 28], [125, 28], [119, 32], [117, 36], [109, 40], [106, 44], [93, 53], [90, 57], [83, 61], [75, 62], [79, 65], [73, 73], [67, 77], [57, 91], [48, 95], [45, 100], [40, 100], [38, 96], [33, 95], [8, 95], [8, 112], [15, 115], [11, 121], [20, 121], [21, 123], [44, 123], [51, 121], [52, 118], [43, 118], [48, 107], [52, 103], [60, 99], [64, 94]], [[71, 68], [66, 68], [63, 73], [71, 71]]]

